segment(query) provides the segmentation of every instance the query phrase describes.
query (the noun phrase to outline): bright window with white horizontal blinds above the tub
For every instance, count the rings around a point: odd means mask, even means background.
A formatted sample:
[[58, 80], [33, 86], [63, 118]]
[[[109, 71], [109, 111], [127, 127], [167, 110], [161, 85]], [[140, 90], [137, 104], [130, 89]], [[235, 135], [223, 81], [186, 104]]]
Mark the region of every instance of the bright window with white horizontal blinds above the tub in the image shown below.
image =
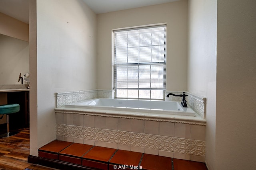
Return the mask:
[[166, 25], [114, 31], [116, 98], [164, 99]]

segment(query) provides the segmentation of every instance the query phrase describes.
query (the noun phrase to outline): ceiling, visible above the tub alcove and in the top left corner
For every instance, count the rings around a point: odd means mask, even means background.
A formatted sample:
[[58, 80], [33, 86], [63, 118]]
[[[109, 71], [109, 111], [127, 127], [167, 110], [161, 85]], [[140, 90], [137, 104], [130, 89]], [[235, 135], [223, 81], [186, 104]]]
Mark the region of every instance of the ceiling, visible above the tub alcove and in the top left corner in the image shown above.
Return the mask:
[[[29, 0], [0, 0], [0, 12], [28, 23]], [[174, 2], [178, 0], [83, 0], [96, 14]]]

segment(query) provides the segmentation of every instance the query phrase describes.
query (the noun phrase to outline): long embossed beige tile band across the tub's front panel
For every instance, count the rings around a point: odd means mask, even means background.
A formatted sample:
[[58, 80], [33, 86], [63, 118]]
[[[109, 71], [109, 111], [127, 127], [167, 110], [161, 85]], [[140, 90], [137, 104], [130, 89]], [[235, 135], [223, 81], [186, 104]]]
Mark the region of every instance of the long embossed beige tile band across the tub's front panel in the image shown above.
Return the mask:
[[56, 124], [56, 136], [205, 156], [205, 141], [94, 127]]

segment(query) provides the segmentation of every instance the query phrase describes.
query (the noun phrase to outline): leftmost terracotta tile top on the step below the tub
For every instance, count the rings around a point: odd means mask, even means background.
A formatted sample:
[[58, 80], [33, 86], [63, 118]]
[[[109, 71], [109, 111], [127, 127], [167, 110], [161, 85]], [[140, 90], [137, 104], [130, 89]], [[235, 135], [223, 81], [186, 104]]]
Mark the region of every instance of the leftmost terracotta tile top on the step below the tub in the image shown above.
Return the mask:
[[46, 151], [46, 152], [52, 152], [52, 153], [58, 153], [71, 145], [71, 142], [65, 142], [65, 141], [52, 141], [51, 143], [48, 143], [47, 145], [44, 145], [43, 147], [39, 148], [39, 151]]

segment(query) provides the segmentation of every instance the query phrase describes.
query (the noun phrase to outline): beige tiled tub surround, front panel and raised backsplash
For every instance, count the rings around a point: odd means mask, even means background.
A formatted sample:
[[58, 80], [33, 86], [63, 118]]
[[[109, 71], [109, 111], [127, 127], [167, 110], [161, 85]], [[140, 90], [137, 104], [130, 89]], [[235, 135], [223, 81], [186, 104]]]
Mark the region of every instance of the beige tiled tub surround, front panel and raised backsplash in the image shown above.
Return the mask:
[[[66, 93], [78, 99], [66, 98], [64, 93], [57, 94], [56, 139], [204, 162], [206, 121], [201, 116], [145, 117], [139, 114], [99, 113], [97, 110], [62, 107], [69, 102], [79, 102], [84, 98], [81, 97], [84, 93], [86, 99], [103, 98], [98, 96], [98, 90]], [[112, 90], [103, 91], [103, 94], [112, 96]], [[190, 106], [190, 95], [186, 100]]]

